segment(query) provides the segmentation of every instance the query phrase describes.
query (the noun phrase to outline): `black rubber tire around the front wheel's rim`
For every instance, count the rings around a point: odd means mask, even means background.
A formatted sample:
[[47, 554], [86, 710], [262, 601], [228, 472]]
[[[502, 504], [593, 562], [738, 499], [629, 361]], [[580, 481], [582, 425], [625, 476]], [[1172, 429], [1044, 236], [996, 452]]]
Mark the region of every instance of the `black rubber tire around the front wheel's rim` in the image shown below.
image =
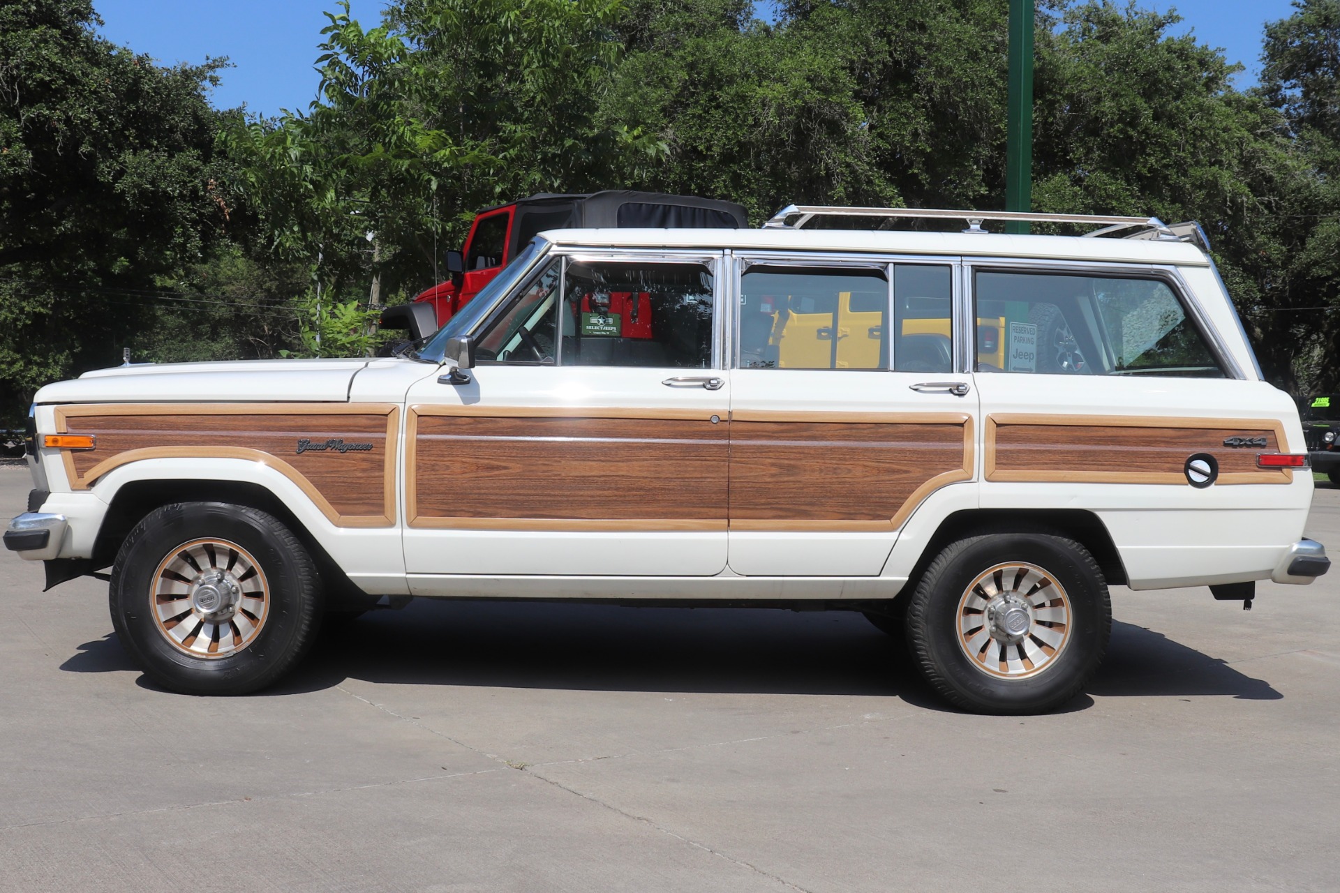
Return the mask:
[[[217, 548], [216, 541], [236, 545], [236, 553], [245, 560], [229, 558], [229, 550]], [[162, 613], [155, 605], [163, 602], [154, 593], [163, 581], [172, 585], [181, 578], [172, 569], [182, 566], [186, 546], [196, 542], [214, 544], [208, 546], [209, 556], [218, 554], [213, 566], [228, 564], [232, 569], [233, 564], [251, 564], [256, 570], [248, 570], [247, 578], [260, 582], [241, 586], [264, 588], [265, 611], [257, 615], [259, 620], [243, 616], [241, 608], [236, 611], [236, 620], [247, 623], [249, 632], [236, 625], [230, 619], [234, 615], [210, 627], [216, 632], [204, 648], [222, 652], [222, 629], [226, 628], [230, 643], [243, 643], [230, 653], [197, 655], [188, 652], [185, 644], [173, 644], [166, 624], [177, 628], [177, 624], [192, 623], [192, 613], [182, 613], [180, 621], [159, 621], [155, 616]], [[198, 585], [182, 585], [190, 592], [200, 589]], [[236, 589], [233, 585], [232, 590]], [[196, 602], [185, 598], [182, 611], [194, 612]], [[264, 511], [224, 502], [184, 502], [149, 513], [121, 545], [109, 589], [111, 623], [126, 651], [155, 683], [186, 695], [245, 695], [273, 684], [311, 645], [322, 616], [320, 601], [316, 565], [297, 537]], [[205, 621], [197, 619], [194, 623]], [[194, 637], [186, 636], [188, 644], [200, 640], [206, 627], [197, 629]]]

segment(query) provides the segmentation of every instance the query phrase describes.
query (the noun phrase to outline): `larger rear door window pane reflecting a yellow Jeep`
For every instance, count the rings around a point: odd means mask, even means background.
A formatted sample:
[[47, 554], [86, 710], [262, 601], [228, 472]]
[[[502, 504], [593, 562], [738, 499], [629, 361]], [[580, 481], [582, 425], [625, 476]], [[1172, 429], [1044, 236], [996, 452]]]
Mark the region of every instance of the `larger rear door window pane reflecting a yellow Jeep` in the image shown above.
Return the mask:
[[740, 368], [887, 370], [883, 268], [750, 266], [740, 280]]

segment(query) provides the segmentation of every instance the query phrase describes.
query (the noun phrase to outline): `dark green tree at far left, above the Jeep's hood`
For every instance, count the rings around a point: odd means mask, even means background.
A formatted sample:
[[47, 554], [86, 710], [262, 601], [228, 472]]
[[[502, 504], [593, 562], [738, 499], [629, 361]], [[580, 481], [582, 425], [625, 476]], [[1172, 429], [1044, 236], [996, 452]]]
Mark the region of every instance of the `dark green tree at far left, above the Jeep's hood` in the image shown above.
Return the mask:
[[205, 91], [222, 60], [163, 68], [94, 31], [88, 0], [0, 0], [0, 415], [113, 364], [139, 289], [228, 224]]

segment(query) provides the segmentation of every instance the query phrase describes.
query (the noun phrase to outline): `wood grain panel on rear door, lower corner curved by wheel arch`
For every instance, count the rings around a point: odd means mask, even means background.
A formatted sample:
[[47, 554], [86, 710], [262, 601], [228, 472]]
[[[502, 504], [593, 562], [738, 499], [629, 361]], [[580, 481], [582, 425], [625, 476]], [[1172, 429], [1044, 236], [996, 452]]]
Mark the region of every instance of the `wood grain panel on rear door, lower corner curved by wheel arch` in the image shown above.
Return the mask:
[[973, 477], [966, 415], [740, 412], [730, 424], [732, 530], [894, 530]]

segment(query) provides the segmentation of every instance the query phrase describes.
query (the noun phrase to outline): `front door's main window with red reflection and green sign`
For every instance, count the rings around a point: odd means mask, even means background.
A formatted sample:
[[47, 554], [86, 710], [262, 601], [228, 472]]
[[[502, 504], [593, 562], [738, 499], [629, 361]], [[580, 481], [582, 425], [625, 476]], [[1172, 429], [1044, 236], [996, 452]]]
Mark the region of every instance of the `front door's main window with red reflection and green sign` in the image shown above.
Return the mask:
[[570, 261], [563, 366], [709, 368], [713, 277], [702, 264]]

